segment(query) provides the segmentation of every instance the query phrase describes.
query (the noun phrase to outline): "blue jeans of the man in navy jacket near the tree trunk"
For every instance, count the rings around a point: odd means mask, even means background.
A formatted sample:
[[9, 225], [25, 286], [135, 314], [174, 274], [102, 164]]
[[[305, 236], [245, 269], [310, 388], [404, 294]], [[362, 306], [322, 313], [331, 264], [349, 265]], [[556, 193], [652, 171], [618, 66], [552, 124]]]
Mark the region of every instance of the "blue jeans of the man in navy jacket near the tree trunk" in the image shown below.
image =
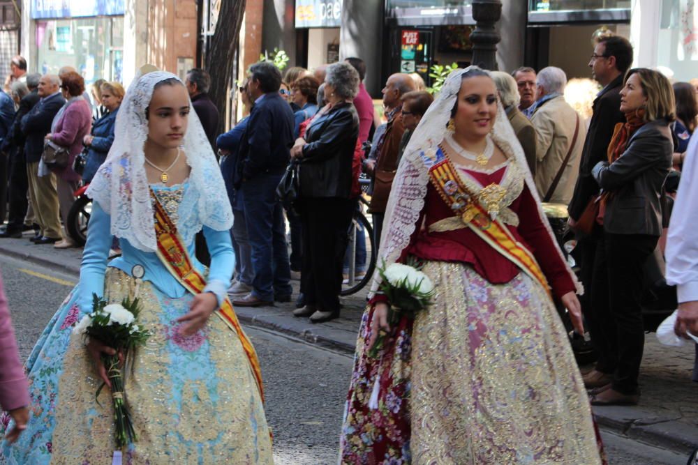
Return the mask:
[[288, 263], [283, 207], [276, 199], [281, 174], [262, 174], [242, 183], [247, 232], [252, 246], [252, 294], [261, 300], [290, 296], [291, 269]]

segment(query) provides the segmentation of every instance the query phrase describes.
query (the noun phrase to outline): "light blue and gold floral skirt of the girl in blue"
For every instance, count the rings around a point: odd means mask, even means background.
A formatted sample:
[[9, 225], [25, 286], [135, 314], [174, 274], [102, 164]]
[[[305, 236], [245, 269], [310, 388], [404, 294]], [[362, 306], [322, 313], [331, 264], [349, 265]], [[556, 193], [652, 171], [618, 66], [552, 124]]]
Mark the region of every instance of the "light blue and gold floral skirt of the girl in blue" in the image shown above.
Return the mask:
[[[116, 448], [109, 388], [80, 337], [77, 288], [54, 315], [27, 361], [31, 420], [13, 445], [2, 443], [8, 464], [111, 464]], [[131, 277], [110, 268], [105, 298], [133, 296]], [[138, 442], [122, 450], [124, 464], [272, 464], [272, 444], [255, 378], [237, 334], [211, 315], [191, 337], [175, 320], [193, 296], [169, 298], [140, 285], [139, 325], [152, 332], [131, 357], [125, 388]], [[6, 429], [3, 422], [1, 429]]]

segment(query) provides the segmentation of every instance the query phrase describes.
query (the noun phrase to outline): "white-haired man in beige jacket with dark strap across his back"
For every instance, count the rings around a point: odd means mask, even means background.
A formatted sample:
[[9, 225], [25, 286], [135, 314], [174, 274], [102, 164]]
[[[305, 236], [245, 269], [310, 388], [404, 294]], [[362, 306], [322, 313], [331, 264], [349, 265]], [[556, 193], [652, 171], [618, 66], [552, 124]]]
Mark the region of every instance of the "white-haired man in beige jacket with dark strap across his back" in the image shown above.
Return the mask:
[[533, 123], [536, 133], [535, 186], [542, 201], [569, 204], [579, 174], [586, 127], [579, 114], [565, 102], [565, 72], [555, 66], [536, 77]]

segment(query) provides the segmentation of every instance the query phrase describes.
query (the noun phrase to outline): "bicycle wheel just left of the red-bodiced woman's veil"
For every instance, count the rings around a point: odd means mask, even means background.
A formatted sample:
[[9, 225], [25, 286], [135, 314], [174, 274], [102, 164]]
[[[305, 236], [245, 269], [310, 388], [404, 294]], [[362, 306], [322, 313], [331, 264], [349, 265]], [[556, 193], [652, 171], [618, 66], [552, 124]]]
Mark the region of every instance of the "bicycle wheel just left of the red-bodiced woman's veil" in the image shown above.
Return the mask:
[[[373, 246], [373, 227], [371, 226], [369, 220], [366, 219], [364, 214], [360, 213], [359, 211], [354, 213], [354, 218], [352, 218], [352, 224], [349, 231], [349, 241], [349, 250], [355, 251], [355, 261], [357, 256], [359, 257], [359, 261], [361, 261], [360, 259], [362, 257], [365, 257], [365, 273], [362, 272], [359, 274], [355, 272], [355, 276], [353, 277], [354, 279], [352, 279], [351, 273], [348, 273], [348, 276], [346, 276], [346, 279], [342, 282], [342, 290], [339, 293], [341, 296], [350, 296], [351, 294], [355, 294], [361, 289], [364, 289], [366, 284], [371, 281], [373, 270], [376, 269], [376, 254], [378, 253], [378, 250], [376, 250], [376, 247]], [[352, 243], [355, 245], [355, 247], [352, 247]], [[363, 251], [361, 250], [362, 244], [364, 244]], [[348, 257], [346, 257], [345, 263], [348, 261], [351, 261], [351, 253], [348, 254]], [[356, 270], [361, 265], [361, 263], [357, 264], [354, 269]]]

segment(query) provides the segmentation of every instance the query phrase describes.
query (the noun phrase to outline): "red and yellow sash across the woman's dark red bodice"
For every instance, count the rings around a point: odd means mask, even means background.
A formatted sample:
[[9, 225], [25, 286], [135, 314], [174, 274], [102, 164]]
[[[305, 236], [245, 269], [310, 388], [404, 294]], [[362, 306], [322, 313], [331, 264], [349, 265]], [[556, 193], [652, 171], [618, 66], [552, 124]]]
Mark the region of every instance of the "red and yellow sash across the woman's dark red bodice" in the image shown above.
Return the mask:
[[533, 254], [514, 238], [500, 220], [492, 220], [487, 210], [463, 184], [451, 162], [444, 158], [429, 169], [429, 178], [440, 197], [461, 218], [463, 224], [480, 236], [524, 273], [540, 282], [550, 293], [548, 281]]

